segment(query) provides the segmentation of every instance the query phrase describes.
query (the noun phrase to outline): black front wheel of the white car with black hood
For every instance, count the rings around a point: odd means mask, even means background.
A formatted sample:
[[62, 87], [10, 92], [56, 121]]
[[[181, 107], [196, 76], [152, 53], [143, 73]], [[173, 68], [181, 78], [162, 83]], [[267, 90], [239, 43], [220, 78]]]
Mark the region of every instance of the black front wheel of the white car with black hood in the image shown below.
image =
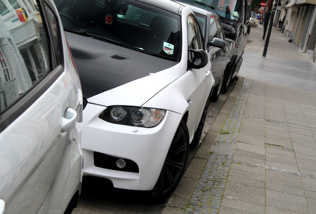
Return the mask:
[[164, 160], [158, 181], [150, 193], [150, 202], [164, 202], [178, 186], [185, 171], [189, 155], [189, 132], [181, 120]]

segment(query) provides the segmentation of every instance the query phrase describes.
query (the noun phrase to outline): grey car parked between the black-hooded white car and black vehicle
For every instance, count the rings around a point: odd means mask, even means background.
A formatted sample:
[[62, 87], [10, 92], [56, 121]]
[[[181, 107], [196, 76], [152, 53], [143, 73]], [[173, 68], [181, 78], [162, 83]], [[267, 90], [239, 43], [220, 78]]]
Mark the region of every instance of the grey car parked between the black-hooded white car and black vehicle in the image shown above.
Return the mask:
[[[230, 53], [235, 46], [233, 40], [226, 40], [219, 16], [206, 9], [182, 3], [190, 7], [196, 15], [201, 26], [206, 51], [211, 60], [211, 70], [215, 80], [215, 87], [211, 95], [211, 101], [217, 101], [220, 97], [222, 86], [227, 85], [227, 76], [230, 67]], [[226, 81], [225, 81], [226, 80]]]

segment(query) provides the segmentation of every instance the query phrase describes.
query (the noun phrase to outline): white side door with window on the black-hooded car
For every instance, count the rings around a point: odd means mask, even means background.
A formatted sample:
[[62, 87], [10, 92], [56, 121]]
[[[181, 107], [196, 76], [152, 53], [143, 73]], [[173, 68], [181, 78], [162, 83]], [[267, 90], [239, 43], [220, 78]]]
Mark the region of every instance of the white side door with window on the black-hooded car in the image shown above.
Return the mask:
[[[193, 14], [187, 17], [187, 33], [188, 47], [193, 50], [205, 50], [202, 32], [198, 25], [197, 19]], [[188, 54], [188, 57], [193, 57]], [[210, 62], [209, 62], [210, 63]], [[193, 136], [197, 125], [200, 121], [203, 108], [210, 93], [212, 72], [208, 69], [209, 64], [200, 69], [189, 69], [192, 95], [188, 99], [190, 112], [188, 116], [187, 126], [190, 136]], [[208, 78], [210, 77], [210, 78]]]

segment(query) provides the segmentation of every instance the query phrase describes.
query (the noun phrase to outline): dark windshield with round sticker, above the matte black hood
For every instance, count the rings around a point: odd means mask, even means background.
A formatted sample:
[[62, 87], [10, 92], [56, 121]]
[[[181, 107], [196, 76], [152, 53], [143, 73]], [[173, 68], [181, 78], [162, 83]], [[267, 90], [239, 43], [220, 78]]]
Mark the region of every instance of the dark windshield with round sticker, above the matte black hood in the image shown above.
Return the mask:
[[179, 61], [177, 14], [135, 0], [54, 1], [69, 32]]

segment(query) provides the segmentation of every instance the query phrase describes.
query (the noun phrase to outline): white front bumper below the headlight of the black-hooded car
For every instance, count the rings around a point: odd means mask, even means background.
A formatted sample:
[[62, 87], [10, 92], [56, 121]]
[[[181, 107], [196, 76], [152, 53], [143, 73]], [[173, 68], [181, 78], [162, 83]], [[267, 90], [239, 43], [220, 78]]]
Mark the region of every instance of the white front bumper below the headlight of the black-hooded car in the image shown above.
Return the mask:
[[[107, 178], [116, 188], [152, 190], [182, 115], [167, 111], [158, 126], [143, 128], [106, 122], [98, 117], [104, 109], [104, 106], [87, 104], [83, 112], [83, 175]], [[139, 172], [97, 167], [94, 152], [131, 160]]]

